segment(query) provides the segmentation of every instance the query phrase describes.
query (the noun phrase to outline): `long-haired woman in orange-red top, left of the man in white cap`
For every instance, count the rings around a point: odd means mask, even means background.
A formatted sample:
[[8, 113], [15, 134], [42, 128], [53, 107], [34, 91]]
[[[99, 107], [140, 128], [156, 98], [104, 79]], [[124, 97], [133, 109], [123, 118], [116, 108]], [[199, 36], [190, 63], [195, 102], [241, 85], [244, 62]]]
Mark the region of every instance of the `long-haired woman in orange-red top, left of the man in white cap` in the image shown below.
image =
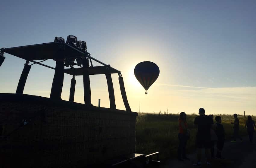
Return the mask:
[[178, 148], [178, 159], [183, 161], [183, 159], [189, 160], [189, 158], [186, 157], [186, 145], [188, 137], [186, 135], [188, 131], [188, 125], [187, 125], [187, 118], [186, 113], [181, 112], [179, 116], [179, 148]]

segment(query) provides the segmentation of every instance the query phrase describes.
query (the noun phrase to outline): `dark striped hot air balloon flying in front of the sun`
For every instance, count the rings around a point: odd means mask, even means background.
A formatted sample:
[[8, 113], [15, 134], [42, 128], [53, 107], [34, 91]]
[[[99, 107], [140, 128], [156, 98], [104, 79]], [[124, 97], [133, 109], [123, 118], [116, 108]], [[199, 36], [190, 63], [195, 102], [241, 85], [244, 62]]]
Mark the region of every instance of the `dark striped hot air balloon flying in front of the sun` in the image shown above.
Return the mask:
[[148, 94], [148, 88], [155, 82], [159, 76], [158, 66], [150, 61], [140, 62], [134, 68], [134, 75]]

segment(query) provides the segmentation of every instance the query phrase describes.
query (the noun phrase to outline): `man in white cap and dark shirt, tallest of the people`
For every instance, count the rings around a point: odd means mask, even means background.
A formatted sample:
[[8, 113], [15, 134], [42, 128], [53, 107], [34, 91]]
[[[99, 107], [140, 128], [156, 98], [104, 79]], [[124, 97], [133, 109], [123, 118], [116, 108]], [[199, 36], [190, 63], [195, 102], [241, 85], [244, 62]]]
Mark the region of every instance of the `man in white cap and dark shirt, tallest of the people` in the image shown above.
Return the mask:
[[197, 163], [194, 166], [201, 166], [201, 155], [202, 148], [205, 150], [205, 155], [207, 157], [207, 165], [211, 166], [211, 136], [210, 131], [211, 127], [213, 128], [213, 120], [211, 117], [205, 115], [203, 108], [199, 109], [199, 116], [195, 117], [194, 124], [197, 125], [197, 134], [196, 134], [196, 148], [197, 148]]

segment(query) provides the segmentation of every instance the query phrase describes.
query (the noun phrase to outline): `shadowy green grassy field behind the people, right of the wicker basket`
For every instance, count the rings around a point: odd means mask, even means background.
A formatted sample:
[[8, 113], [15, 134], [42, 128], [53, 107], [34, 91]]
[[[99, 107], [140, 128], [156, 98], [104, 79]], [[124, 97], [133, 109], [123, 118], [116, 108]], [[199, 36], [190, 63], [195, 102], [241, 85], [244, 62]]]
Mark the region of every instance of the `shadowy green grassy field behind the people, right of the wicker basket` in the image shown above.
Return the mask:
[[[219, 115], [219, 114], [218, 114]], [[187, 115], [188, 128], [191, 131], [191, 138], [187, 143], [187, 152], [195, 150], [195, 134], [197, 128], [194, 126], [196, 114]], [[217, 116], [217, 114], [216, 114]], [[233, 115], [219, 115], [226, 132], [226, 139], [233, 136]], [[136, 122], [136, 153], [150, 154], [160, 152], [160, 159], [176, 157], [179, 145], [178, 114], [147, 114], [140, 113]], [[214, 116], [215, 117], [215, 116]], [[247, 117], [238, 116], [239, 135], [247, 135], [245, 122]], [[253, 117], [253, 120], [256, 118]], [[214, 120], [215, 123], [215, 120]]]

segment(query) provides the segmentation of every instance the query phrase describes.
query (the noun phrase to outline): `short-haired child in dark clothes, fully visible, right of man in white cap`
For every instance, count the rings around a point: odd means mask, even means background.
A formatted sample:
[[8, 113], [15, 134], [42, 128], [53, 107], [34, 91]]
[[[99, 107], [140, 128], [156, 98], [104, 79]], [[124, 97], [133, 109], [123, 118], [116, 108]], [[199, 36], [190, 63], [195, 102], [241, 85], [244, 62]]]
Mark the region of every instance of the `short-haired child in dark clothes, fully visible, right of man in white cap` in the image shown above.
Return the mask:
[[219, 159], [224, 159], [221, 156], [221, 151], [222, 151], [224, 143], [225, 143], [225, 130], [224, 130], [223, 125], [221, 124], [221, 117], [216, 116], [215, 120], [217, 122], [215, 132], [216, 132], [216, 135], [217, 135], [217, 138], [218, 138], [217, 143], [216, 143], [216, 147], [218, 149], [216, 157], [219, 158]]

